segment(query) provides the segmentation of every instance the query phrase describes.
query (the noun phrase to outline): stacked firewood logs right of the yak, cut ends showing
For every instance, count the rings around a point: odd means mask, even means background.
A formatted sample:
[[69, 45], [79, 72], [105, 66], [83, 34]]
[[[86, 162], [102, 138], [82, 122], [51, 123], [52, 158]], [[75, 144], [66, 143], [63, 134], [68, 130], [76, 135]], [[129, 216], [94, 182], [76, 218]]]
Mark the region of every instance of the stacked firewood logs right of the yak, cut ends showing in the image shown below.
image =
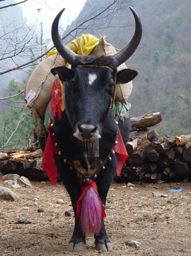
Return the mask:
[[129, 157], [120, 182], [170, 182], [191, 180], [191, 134], [162, 136], [143, 128], [126, 144]]

